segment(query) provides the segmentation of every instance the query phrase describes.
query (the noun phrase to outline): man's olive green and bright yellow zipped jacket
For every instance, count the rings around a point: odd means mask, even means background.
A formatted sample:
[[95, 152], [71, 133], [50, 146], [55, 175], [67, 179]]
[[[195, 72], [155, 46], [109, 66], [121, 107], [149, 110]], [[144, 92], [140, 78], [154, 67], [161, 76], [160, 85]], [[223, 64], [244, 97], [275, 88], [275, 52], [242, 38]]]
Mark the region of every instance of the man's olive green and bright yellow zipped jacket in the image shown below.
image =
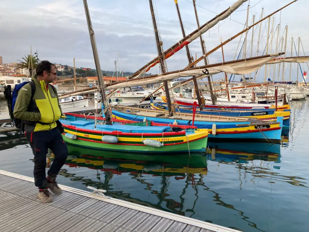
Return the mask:
[[[31, 85], [24, 85], [18, 92], [14, 107], [14, 117], [24, 120], [25, 131], [47, 131], [57, 126], [56, 121], [62, 111], [56, 89], [45, 82], [32, 77], [36, 85], [35, 94], [31, 100]], [[41, 122], [41, 123], [40, 123]]]

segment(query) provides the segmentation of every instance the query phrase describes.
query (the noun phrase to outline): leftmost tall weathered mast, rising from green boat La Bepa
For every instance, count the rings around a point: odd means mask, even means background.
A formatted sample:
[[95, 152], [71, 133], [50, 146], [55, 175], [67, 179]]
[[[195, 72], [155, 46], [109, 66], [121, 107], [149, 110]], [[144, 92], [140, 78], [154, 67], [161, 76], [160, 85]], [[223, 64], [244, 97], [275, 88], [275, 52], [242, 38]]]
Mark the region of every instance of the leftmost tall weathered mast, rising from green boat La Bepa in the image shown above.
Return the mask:
[[[96, 68], [97, 75], [98, 75], [99, 90], [100, 90], [100, 93], [101, 93], [103, 104], [106, 108], [108, 108], [108, 100], [107, 100], [107, 97], [105, 95], [104, 79], [103, 79], [103, 75], [102, 75], [102, 71], [101, 71], [98, 50], [97, 50], [97, 46], [96, 46], [96, 42], [95, 42], [95, 34], [94, 34], [92, 24], [91, 24], [87, 0], [83, 0], [83, 2], [84, 2], [84, 8], [85, 8], [86, 19], [87, 19], [87, 24], [88, 24], [88, 30], [89, 30], [89, 36], [90, 36], [90, 41], [91, 41], [93, 57], [94, 57], [94, 60], [95, 60], [95, 68]], [[111, 124], [111, 112], [109, 111], [109, 109], [107, 109], [104, 112], [104, 114], [105, 114], [106, 124]]]

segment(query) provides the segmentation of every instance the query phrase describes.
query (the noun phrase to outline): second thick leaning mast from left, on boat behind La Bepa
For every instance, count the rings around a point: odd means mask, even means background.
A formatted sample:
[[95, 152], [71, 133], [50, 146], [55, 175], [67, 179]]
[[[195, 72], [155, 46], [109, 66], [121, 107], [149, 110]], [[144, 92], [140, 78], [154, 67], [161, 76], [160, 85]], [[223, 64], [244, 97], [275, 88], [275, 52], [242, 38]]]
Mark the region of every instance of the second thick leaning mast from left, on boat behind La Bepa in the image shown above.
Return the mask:
[[[150, 6], [150, 13], [151, 13], [151, 19], [152, 19], [152, 24], [154, 27], [154, 32], [155, 32], [155, 41], [157, 44], [157, 50], [158, 50], [158, 55], [159, 55], [159, 61], [160, 61], [160, 67], [161, 67], [161, 72], [162, 74], [166, 72], [165, 66], [164, 66], [164, 61], [163, 61], [163, 54], [162, 54], [162, 41], [159, 39], [159, 33], [158, 33], [158, 28], [157, 28], [157, 22], [155, 19], [155, 11], [154, 7], [152, 5], [152, 0], [149, 0], [149, 6]], [[163, 81], [164, 83], [164, 90], [166, 94], [166, 100], [167, 100], [167, 107], [168, 107], [168, 112], [170, 116], [173, 116], [173, 111], [172, 111], [172, 105], [171, 105], [171, 97], [170, 97], [170, 92], [168, 90], [168, 84], [167, 81]]]

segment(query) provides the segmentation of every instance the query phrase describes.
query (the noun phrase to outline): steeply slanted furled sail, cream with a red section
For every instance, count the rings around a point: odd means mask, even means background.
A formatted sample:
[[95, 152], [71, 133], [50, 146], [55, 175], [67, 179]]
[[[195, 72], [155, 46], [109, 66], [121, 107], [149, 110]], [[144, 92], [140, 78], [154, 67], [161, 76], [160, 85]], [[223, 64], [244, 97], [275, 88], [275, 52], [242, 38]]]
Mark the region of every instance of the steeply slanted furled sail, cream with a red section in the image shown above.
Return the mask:
[[[210, 28], [214, 27], [216, 24], [219, 23], [219, 21], [226, 19], [228, 16], [230, 16], [239, 6], [241, 6], [244, 2], [248, 0], [238, 0], [235, 2], [231, 7], [227, 8], [225, 11], [220, 13], [219, 15], [216, 15], [213, 19], [205, 23], [204, 25], [201, 25], [198, 29], [196, 29], [194, 32], [190, 33], [186, 37], [184, 37], [182, 40], [180, 40], [178, 43], [170, 47], [164, 52], [165, 59], [171, 57], [173, 54], [178, 52], [180, 49], [182, 49], [184, 46], [191, 43], [193, 40], [197, 39], [202, 35], [203, 33], [207, 32]], [[149, 71], [151, 67], [154, 67], [156, 64], [159, 63], [159, 57], [156, 57], [152, 61], [150, 61], [148, 64], [146, 64], [144, 67], [133, 73], [131, 76], [129, 76], [129, 79], [134, 78], [138, 75], [144, 74], [145, 72]]]

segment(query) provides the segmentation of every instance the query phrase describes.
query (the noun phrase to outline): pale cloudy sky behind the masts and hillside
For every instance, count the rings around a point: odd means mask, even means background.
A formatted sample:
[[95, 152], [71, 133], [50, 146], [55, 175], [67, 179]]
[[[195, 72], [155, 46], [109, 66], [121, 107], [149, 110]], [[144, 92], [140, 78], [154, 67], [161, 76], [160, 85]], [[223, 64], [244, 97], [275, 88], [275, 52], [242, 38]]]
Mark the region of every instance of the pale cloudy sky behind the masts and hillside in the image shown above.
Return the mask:
[[[196, 0], [200, 24], [206, 23], [235, 1]], [[173, 0], [153, 0], [153, 2], [157, 11], [163, 48], [166, 50], [182, 38], [175, 3]], [[224, 41], [243, 29], [248, 4], [250, 4], [249, 22], [252, 22], [252, 15], [256, 15], [256, 20], [260, 18], [262, 7], [264, 7], [265, 16], [289, 2], [290, 0], [245, 2], [230, 18], [221, 21], [204, 34], [206, 48], [211, 49], [218, 45], [220, 37]], [[185, 31], [188, 34], [197, 28], [192, 0], [178, 0], [178, 3]], [[103, 70], [114, 69], [113, 61], [117, 51], [119, 51], [119, 69], [124, 71], [136, 71], [157, 56], [149, 1], [88, 0], [88, 6]], [[32, 46], [32, 53], [37, 47], [41, 60], [47, 59], [73, 66], [75, 57], [76, 67], [95, 68], [82, 0], [0, 1], [0, 9], [0, 56], [3, 57], [3, 62], [16, 62], [22, 56], [30, 54], [30, 46]], [[277, 24], [281, 23], [280, 37], [285, 36], [284, 27], [288, 25], [287, 54], [290, 54], [291, 37], [296, 39], [301, 37], [304, 50], [309, 54], [307, 9], [309, 9], [309, 1], [298, 0], [281, 13], [274, 15], [273, 53], [276, 47]], [[261, 26], [259, 55], [262, 55], [265, 49], [267, 26], [266, 20]], [[254, 55], [257, 49], [258, 29], [259, 27], [254, 29]], [[251, 52], [251, 36], [252, 31], [249, 31], [246, 52], [248, 56]], [[239, 39], [240, 37], [224, 46], [226, 61], [233, 60]], [[300, 49], [302, 55], [302, 47]], [[190, 51], [194, 58], [196, 53], [197, 57], [201, 56], [198, 39], [190, 44]], [[222, 62], [221, 50], [210, 55], [209, 61], [210, 63]], [[186, 52], [183, 49], [167, 61], [167, 68], [172, 71], [182, 69], [187, 64]], [[202, 62], [199, 64], [203, 65]], [[302, 67], [307, 69], [306, 64]], [[150, 72], [159, 72], [159, 67], [152, 68]], [[294, 73], [293, 69], [292, 75]]]

